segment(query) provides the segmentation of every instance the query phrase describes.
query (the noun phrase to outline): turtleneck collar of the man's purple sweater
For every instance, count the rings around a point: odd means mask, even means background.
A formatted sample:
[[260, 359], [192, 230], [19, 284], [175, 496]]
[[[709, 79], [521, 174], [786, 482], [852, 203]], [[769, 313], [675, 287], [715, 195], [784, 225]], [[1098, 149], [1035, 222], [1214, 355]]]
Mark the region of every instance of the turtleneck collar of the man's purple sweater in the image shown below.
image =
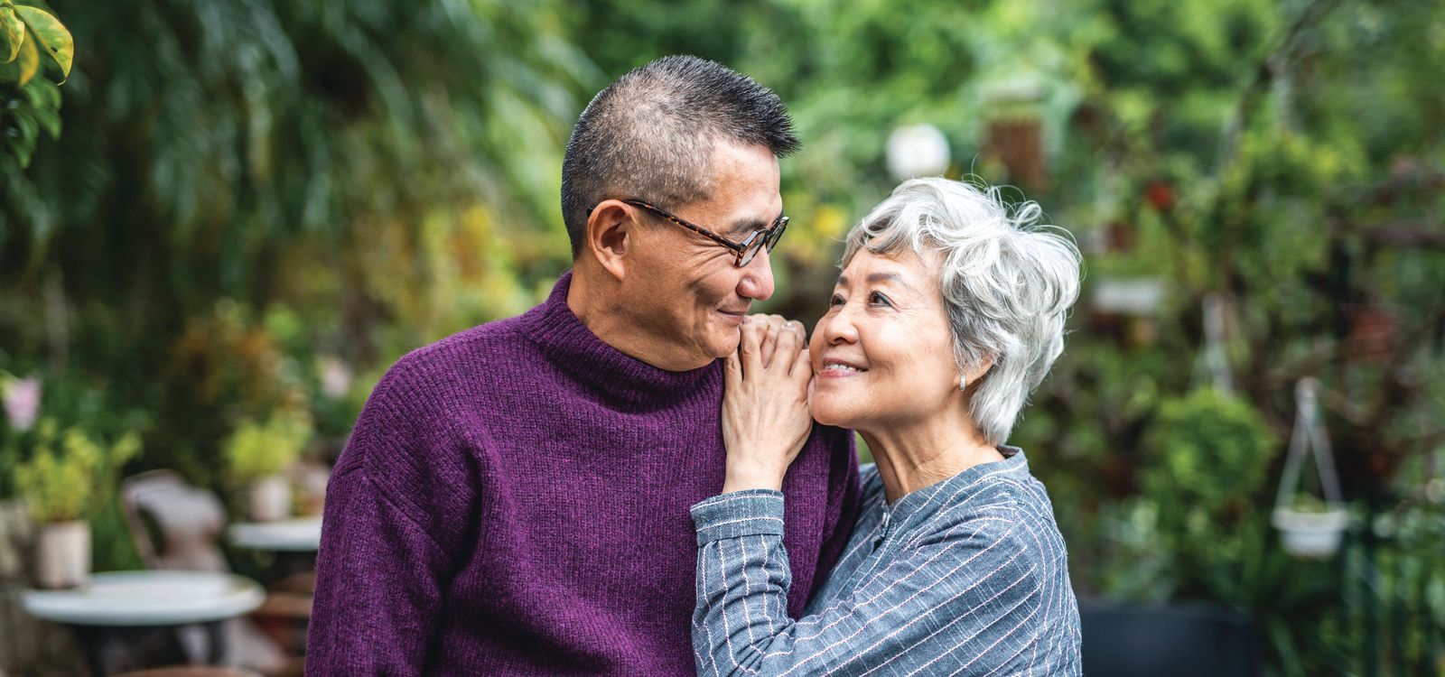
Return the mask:
[[556, 280], [546, 302], [519, 318], [519, 328], [549, 361], [577, 383], [600, 393], [611, 406], [646, 411], [722, 383], [721, 362], [715, 359], [691, 371], [666, 371], [607, 345], [566, 305], [571, 286], [572, 271], [568, 270]]

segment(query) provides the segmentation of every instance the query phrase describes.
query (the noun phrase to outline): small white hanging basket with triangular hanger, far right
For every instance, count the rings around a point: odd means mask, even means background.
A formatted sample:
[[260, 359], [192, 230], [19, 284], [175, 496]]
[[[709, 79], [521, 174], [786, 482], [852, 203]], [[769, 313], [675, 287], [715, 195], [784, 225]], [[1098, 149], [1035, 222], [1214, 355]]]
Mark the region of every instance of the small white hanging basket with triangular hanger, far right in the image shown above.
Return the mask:
[[[1289, 458], [1274, 497], [1270, 523], [1279, 530], [1285, 551], [1295, 557], [1325, 559], [1340, 550], [1350, 512], [1340, 494], [1335, 459], [1329, 452], [1329, 437], [1319, 420], [1319, 381], [1302, 378], [1295, 385], [1298, 413], [1295, 433], [1289, 439]], [[1319, 471], [1324, 501], [1299, 489], [1305, 456], [1314, 456]]]

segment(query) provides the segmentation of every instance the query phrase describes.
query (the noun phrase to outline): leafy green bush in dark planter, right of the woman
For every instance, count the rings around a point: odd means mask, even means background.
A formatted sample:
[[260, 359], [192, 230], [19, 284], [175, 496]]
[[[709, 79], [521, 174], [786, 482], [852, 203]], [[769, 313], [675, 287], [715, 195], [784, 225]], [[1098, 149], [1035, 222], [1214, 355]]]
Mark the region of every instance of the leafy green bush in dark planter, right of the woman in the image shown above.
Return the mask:
[[1085, 674], [1257, 674], [1247, 563], [1267, 524], [1251, 504], [1274, 439], [1211, 371], [1159, 403], [1143, 433], [1140, 494], [1104, 512], [1114, 547], [1101, 592], [1113, 600], [1079, 596]]

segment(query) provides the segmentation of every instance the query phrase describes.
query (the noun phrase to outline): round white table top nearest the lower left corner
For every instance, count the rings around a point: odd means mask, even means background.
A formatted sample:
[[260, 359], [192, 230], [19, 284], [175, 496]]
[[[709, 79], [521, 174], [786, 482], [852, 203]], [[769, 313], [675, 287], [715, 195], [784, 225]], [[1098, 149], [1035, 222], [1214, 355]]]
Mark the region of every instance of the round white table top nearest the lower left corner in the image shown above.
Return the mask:
[[215, 572], [105, 572], [71, 590], [25, 590], [25, 611], [72, 625], [184, 625], [254, 611], [266, 592], [251, 579]]

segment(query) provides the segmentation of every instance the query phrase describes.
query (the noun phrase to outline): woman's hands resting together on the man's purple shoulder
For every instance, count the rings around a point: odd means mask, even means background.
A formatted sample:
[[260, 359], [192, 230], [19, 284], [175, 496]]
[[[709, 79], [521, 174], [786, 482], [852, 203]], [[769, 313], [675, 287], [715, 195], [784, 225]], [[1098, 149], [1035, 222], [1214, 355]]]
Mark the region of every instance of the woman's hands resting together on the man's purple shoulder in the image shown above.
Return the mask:
[[724, 362], [722, 491], [782, 489], [783, 475], [812, 429], [812, 364], [796, 322], [749, 318], [740, 331], [737, 352]]

